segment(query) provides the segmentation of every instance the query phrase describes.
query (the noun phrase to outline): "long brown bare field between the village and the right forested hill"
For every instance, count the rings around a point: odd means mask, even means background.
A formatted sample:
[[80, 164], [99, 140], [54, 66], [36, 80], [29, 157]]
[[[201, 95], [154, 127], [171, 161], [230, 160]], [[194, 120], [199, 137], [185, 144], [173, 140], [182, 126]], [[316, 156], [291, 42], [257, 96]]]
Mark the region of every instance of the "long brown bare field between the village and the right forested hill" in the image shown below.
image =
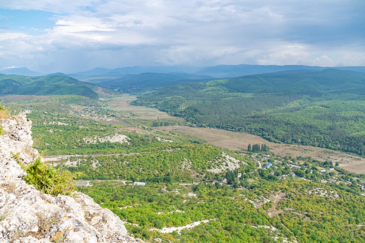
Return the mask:
[[272, 143], [259, 136], [252, 134], [231, 132], [226, 130], [211, 128], [195, 128], [187, 126], [169, 126], [158, 129], [165, 131], [184, 132], [203, 139], [208, 144], [217, 147], [228, 148], [230, 150], [246, 150], [247, 145], [255, 143], [265, 143], [273, 153], [285, 156], [311, 156], [320, 161], [330, 160], [338, 162], [339, 167], [354, 173], [365, 174], [365, 158], [353, 154], [346, 154], [341, 151], [329, 150], [311, 146], [301, 146], [295, 144]]

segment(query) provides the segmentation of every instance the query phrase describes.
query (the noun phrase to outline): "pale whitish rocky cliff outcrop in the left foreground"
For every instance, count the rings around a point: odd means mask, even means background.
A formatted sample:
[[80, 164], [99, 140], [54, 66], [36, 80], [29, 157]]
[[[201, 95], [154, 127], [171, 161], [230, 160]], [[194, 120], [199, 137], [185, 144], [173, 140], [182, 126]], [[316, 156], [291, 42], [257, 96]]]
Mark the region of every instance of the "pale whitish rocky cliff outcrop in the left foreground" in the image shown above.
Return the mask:
[[44, 194], [22, 180], [17, 161], [39, 157], [32, 148], [31, 121], [25, 115], [0, 120], [0, 242], [127, 243], [123, 222], [91, 197], [74, 192], [57, 197]]

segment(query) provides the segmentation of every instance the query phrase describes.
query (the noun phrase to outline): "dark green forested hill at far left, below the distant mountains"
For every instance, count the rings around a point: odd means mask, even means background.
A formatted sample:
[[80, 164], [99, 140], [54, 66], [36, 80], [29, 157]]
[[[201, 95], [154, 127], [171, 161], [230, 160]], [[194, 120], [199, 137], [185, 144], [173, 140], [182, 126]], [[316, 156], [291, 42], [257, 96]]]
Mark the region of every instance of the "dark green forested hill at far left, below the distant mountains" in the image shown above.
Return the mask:
[[0, 74], [0, 94], [81, 95], [97, 99], [96, 87], [68, 76], [26, 77]]

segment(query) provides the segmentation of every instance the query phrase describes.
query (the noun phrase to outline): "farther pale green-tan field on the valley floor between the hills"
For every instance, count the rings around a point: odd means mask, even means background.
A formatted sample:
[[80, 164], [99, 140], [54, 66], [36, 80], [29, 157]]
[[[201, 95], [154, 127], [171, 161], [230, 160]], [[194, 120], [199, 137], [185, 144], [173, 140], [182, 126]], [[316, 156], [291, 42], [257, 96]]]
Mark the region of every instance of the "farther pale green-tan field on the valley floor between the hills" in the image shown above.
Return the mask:
[[136, 96], [123, 94], [112, 98], [108, 101], [108, 105], [103, 108], [112, 111], [120, 111], [125, 113], [125, 115], [132, 115], [134, 118], [157, 120], [157, 117], [159, 117], [160, 119], [176, 119], [176, 117], [169, 116], [166, 112], [159, 111], [158, 109], [131, 105], [130, 102], [136, 99]]

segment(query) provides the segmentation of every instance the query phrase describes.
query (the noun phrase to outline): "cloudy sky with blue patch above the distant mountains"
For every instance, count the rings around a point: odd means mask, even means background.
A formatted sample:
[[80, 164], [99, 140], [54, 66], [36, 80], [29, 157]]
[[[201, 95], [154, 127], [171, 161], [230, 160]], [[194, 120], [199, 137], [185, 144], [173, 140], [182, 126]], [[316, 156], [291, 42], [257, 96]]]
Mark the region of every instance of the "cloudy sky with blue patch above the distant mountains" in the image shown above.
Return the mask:
[[365, 66], [364, 0], [0, 1], [0, 70]]

